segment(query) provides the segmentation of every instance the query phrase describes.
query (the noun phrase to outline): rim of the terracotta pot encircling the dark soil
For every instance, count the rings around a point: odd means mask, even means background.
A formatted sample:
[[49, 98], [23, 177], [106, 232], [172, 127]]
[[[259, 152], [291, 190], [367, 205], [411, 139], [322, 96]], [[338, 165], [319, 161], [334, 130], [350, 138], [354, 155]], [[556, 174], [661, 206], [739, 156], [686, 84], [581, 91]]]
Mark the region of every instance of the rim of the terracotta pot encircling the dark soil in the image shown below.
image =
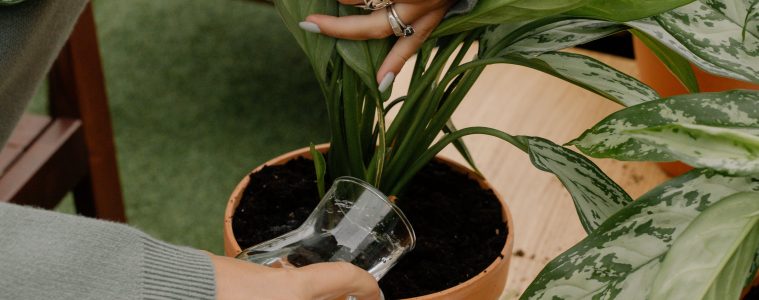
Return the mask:
[[[316, 146], [316, 150], [322, 153], [326, 152], [327, 149], [329, 149], [329, 144], [319, 144]], [[232, 218], [234, 217], [234, 213], [235, 213], [235, 210], [237, 209], [237, 205], [240, 203], [240, 198], [242, 196], [242, 193], [245, 190], [245, 188], [248, 186], [248, 183], [250, 182], [250, 174], [259, 172], [261, 169], [263, 169], [266, 166], [281, 165], [281, 164], [284, 164], [285, 162], [288, 162], [290, 160], [300, 158], [300, 157], [312, 159], [311, 154], [310, 154], [310, 147], [304, 147], [304, 148], [287, 152], [285, 154], [277, 156], [261, 164], [260, 166], [256, 167], [252, 171], [248, 172], [248, 174], [245, 175], [245, 177], [237, 184], [234, 191], [229, 197], [229, 201], [227, 202], [227, 207], [224, 212], [224, 242], [226, 244], [225, 252], [227, 252], [226, 254], [228, 256], [231, 255], [234, 257], [235, 255], [242, 252], [240, 245], [237, 244], [237, 240], [234, 237], [234, 232], [232, 230]], [[479, 281], [480, 279], [485, 277], [488, 273], [491, 273], [493, 270], [499, 267], [501, 264], [509, 264], [511, 260], [511, 250], [513, 249], [513, 245], [514, 245], [514, 223], [513, 223], [514, 221], [511, 217], [511, 211], [509, 210], [509, 207], [506, 201], [501, 197], [498, 191], [496, 191], [490, 185], [487, 179], [478, 175], [477, 173], [470, 170], [466, 166], [442, 156], [435, 156], [435, 160], [449, 165], [451, 168], [453, 168], [457, 172], [466, 174], [469, 178], [476, 180], [480, 184], [480, 187], [482, 187], [483, 189], [491, 190], [493, 192], [495, 197], [501, 203], [501, 215], [502, 215], [502, 218], [505, 219], [506, 221], [506, 230], [508, 234], [506, 236], [506, 243], [504, 243], [504, 246], [501, 249], [500, 255], [496, 257], [495, 260], [493, 260], [493, 262], [491, 262], [479, 274], [475, 275], [472, 278], [469, 278], [468, 280], [462, 283], [459, 283], [458, 285], [450, 287], [448, 289], [438, 291], [432, 294], [419, 296], [419, 297], [407, 298], [406, 300], [425, 300], [425, 299], [431, 299], [433, 297], [441, 297], [441, 296], [453, 294], [463, 289], [464, 287], [471, 285], [474, 282]], [[505, 267], [508, 268], [508, 266], [505, 266]]]

